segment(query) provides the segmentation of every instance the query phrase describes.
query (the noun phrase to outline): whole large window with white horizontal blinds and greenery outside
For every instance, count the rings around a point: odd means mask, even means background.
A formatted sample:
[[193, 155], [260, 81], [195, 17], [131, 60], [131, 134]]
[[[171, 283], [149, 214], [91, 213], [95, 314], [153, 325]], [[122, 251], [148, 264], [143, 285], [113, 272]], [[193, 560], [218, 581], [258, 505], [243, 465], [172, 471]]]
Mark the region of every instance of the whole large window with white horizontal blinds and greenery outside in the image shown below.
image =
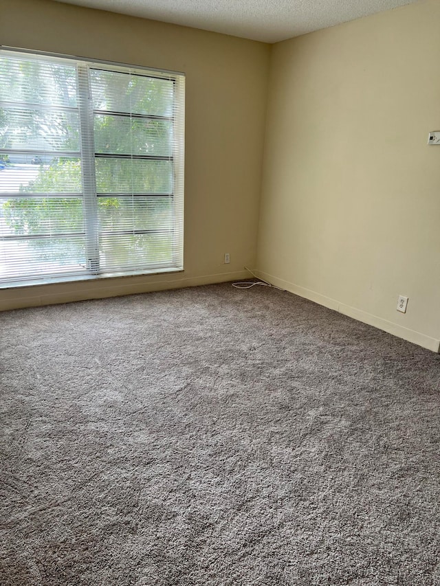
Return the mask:
[[183, 268], [184, 84], [0, 51], [0, 286]]

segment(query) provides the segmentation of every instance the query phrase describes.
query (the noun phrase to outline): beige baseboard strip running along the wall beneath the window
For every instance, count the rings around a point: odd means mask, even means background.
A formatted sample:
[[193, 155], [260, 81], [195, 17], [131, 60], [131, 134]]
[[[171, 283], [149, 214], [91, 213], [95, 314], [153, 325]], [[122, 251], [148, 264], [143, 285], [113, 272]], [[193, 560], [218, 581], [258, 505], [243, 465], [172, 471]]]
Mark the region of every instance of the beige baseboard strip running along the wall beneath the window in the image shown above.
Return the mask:
[[182, 277], [182, 273], [149, 275], [127, 278], [109, 278], [45, 284], [0, 290], [0, 311], [55, 305], [74, 301], [104, 299], [135, 293], [151, 293], [165, 289], [181, 289], [198, 285], [228, 282], [249, 278], [248, 271], [234, 271], [196, 277]]

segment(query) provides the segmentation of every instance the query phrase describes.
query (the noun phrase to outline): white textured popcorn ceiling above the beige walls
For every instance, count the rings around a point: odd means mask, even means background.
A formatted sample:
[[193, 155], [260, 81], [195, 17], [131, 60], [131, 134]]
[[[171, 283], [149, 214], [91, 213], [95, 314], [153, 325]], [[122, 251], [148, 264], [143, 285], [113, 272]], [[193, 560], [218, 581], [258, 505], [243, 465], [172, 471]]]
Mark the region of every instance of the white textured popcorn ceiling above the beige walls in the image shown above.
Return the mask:
[[415, 0], [58, 0], [276, 43]]

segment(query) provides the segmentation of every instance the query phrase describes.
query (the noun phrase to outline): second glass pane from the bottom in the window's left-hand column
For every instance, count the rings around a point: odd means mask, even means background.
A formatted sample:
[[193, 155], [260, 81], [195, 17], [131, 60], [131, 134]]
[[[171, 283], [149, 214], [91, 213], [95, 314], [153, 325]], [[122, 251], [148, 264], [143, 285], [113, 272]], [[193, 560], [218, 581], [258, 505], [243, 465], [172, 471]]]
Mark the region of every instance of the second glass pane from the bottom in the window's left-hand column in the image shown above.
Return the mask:
[[83, 199], [13, 197], [0, 199], [0, 237], [84, 232]]

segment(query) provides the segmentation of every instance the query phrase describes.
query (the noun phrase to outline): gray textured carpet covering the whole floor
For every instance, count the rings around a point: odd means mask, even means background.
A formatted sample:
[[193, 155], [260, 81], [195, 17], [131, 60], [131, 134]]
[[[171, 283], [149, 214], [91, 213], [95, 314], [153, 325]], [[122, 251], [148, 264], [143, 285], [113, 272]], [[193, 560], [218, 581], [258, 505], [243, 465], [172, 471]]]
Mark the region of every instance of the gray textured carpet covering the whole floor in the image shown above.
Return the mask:
[[440, 585], [440, 357], [230, 284], [11, 311], [1, 586]]

